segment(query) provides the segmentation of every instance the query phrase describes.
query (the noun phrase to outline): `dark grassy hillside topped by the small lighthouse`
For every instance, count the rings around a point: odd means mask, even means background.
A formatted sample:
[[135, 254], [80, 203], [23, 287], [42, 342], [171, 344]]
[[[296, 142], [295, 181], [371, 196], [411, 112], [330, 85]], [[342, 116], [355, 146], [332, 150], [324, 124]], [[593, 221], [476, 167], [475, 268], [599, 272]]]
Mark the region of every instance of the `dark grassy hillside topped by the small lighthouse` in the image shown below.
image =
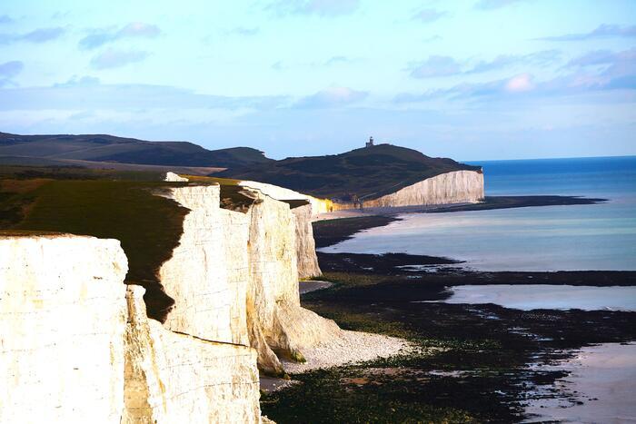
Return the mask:
[[479, 166], [432, 158], [392, 144], [351, 152], [287, 158], [236, 167], [215, 175], [269, 182], [317, 197], [344, 202], [375, 199], [426, 178], [452, 171], [480, 171]]

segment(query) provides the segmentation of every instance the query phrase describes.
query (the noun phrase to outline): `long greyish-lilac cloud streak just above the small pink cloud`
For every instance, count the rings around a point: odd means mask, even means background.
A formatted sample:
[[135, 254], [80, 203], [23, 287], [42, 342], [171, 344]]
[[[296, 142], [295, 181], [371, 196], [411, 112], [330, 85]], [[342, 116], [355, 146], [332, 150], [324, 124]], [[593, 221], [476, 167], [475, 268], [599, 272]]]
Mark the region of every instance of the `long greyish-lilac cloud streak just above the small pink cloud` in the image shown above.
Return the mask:
[[561, 58], [558, 50], [544, 50], [531, 54], [501, 54], [490, 61], [471, 64], [458, 61], [451, 56], [429, 56], [422, 62], [409, 64], [407, 70], [413, 78], [432, 78], [458, 74], [482, 74], [515, 65], [553, 64]]

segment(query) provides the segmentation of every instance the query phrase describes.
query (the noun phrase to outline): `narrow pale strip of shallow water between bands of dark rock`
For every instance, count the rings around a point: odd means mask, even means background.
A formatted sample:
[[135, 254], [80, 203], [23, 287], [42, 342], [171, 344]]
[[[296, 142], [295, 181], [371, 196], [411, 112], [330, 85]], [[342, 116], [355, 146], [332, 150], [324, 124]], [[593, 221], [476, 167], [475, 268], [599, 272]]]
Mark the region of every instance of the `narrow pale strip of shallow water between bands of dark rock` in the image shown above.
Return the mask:
[[494, 303], [504, 308], [582, 311], [636, 311], [636, 287], [550, 284], [454, 286], [445, 303]]

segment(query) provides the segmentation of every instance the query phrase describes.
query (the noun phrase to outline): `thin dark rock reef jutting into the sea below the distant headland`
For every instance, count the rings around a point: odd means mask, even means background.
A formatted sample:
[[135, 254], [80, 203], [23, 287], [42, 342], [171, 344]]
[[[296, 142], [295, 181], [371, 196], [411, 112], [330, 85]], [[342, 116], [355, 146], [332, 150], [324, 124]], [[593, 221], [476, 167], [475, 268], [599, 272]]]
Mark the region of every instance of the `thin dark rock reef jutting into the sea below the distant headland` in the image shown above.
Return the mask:
[[607, 199], [595, 199], [579, 196], [486, 196], [483, 202], [448, 206], [427, 211], [462, 212], [486, 211], [491, 209], [526, 208], [530, 206], [564, 206], [571, 204], [596, 204], [607, 202]]

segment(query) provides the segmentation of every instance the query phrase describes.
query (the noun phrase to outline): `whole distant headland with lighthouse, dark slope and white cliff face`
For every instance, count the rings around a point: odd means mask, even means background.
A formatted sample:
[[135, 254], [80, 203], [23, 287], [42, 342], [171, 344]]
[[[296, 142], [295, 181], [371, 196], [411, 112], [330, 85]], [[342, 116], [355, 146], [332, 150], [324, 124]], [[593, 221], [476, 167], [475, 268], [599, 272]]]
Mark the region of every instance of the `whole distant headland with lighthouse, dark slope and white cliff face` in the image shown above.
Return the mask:
[[[392, 144], [234, 167], [214, 175], [285, 187], [298, 193], [294, 198], [304, 197], [315, 203], [315, 213], [325, 212], [321, 208], [331, 212], [357, 207], [479, 202], [483, 198], [481, 167], [432, 158]], [[328, 201], [321, 204], [314, 199]]]

